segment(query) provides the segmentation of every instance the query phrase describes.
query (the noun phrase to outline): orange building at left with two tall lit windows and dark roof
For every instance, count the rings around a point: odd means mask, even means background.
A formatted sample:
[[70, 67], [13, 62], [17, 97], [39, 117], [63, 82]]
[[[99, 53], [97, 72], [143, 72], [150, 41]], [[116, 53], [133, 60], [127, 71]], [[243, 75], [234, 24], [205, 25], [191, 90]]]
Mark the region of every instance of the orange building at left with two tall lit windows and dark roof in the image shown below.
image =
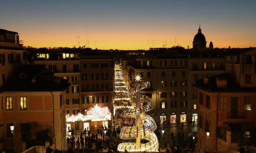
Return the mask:
[[[22, 65], [1, 87], [1, 145], [22, 152], [49, 141], [66, 149], [65, 79], [48, 73], [45, 65]], [[10, 125], [14, 124], [13, 133]], [[35, 143], [36, 142], [36, 143]]]

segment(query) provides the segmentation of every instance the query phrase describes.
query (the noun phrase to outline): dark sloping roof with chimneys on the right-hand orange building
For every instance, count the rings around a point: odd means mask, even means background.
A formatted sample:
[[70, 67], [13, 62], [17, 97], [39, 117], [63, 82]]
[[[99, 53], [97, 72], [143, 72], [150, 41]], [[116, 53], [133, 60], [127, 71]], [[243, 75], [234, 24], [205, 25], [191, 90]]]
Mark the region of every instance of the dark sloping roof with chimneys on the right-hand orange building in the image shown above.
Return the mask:
[[[227, 87], [218, 88], [216, 79], [218, 77], [227, 78]], [[223, 73], [213, 77], [209, 77], [209, 83], [204, 84], [204, 79], [199, 79], [195, 81], [192, 85], [198, 89], [207, 91], [207, 92], [256, 92], [256, 88], [242, 88], [240, 87], [228, 73]]]

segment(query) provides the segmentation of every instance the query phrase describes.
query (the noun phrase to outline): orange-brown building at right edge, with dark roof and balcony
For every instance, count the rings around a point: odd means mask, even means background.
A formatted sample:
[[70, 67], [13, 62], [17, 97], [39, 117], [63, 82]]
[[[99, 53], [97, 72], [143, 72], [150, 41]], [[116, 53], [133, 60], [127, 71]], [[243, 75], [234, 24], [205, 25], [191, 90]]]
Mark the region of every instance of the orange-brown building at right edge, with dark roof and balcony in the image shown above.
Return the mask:
[[[226, 151], [255, 145], [255, 48], [230, 49], [226, 73], [197, 80], [198, 150]], [[209, 139], [207, 138], [209, 132]]]

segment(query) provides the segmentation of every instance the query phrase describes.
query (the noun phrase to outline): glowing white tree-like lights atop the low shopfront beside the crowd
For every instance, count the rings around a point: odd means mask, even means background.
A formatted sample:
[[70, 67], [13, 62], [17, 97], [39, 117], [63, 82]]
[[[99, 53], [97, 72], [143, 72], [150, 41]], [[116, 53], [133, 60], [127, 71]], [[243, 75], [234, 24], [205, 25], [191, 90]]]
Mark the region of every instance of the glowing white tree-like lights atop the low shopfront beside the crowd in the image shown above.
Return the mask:
[[87, 115], [83, 115], [82, 113], [78, 113], [77, 115], [66, 115], [67, 122], [75, 122], [75, 121], [104, 121], [111, 120], [111, 113], [107, 106], [100, 107], [98, 104], [90, 107], [86, 110]]

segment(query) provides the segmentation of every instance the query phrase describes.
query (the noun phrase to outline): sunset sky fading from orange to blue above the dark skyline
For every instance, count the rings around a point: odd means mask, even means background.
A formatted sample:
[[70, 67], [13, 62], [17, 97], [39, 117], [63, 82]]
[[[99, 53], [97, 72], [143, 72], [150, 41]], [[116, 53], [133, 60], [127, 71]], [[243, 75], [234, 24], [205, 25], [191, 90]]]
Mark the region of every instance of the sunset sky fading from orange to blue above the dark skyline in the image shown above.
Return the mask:
[[[256, 47], [256, 0], [1, 1], [1, 28], [24, 46], [92, 49], [192, 47], [199, 24], [214, 47]], [[149, 40], [149, 44], [148, 44]]]

